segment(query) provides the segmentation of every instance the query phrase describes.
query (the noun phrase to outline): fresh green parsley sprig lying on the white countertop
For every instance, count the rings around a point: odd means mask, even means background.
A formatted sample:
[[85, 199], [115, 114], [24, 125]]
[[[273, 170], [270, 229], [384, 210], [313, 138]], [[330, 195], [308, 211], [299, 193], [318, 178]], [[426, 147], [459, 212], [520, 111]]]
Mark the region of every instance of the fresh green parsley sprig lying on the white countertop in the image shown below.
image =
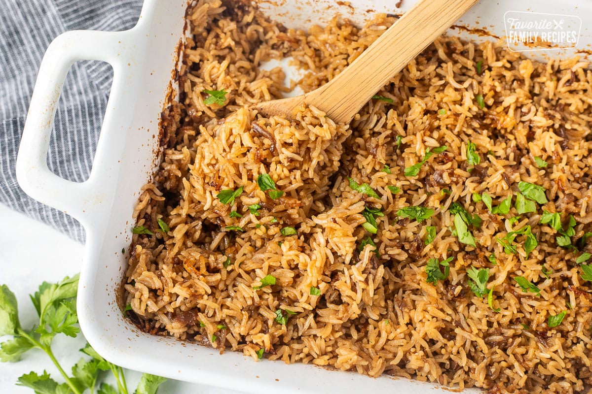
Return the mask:
[[[31, 349], [44, 351], [59, 370], [65, 383], [57, 383], [45, 371], [41, 375], [30, 372], [18, 378], [18, 386], [31, 388], [36, 393], [82, 394], [86, 389], [95, 392], [96, 387], [99, 386], [98, 393], [101, 394], [128, 394], [123, 369], [103, 359], [89, 344], [86, 344], [81, 351], [91, 359], [80, 359], [72, 367], [72, 376], [66, 373], [53, 353], [54, 337], [58, 334], [76, 337], [80, 332], [78, 314], [76, 314], [77, 289], [78, 275], [72, 278], [66, 276], [56, 284], [43, 282], [38, 291], [30, 295], [39, 318], [38, 324], [27, 330], [21, 326], [18, 318], [17, 299], [14, 294], [8, 286], [0, 286], [0, 336], [13, 336], [12, 340], [0, 344], [0, 361], [17, 362]], [[115, 376], [117, 389], [99, 379], [101, 372], [108, 370]], [[163, 377], [144, 374], [134, 393], [155, 394], [165, 380]]]

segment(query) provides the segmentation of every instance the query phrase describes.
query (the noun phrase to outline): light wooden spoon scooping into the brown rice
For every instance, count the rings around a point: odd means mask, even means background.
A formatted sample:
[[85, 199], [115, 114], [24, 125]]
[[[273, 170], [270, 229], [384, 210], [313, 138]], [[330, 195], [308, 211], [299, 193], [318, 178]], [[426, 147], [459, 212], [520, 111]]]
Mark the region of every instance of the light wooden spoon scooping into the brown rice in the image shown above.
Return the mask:
[[381, 87], [448, 29], [478, 0], [420, 0], [337, 77], [301, 96], [259, 103], [266, 116], [292, 118], [303, 103], [338, 123], [353, 116]]

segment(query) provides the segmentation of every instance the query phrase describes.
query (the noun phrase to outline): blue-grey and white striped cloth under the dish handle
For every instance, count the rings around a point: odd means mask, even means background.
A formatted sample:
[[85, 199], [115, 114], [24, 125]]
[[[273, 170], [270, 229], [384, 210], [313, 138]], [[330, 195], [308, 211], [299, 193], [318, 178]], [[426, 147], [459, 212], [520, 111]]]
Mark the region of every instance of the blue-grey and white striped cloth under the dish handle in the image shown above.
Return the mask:
[[[141, 0], [0, 1], [0, 202], [83, 242], [81, 225], [28, 197], [17, 184], [15, 161], [37, 70], [50, 41], [67, 30], [126, 30]], [[60, 97], [47, 162], [72, 181], [91, 171], [112, 70], [107, 63], [72, 66]], [[7, 223], [4, 223], [7, 225]]]

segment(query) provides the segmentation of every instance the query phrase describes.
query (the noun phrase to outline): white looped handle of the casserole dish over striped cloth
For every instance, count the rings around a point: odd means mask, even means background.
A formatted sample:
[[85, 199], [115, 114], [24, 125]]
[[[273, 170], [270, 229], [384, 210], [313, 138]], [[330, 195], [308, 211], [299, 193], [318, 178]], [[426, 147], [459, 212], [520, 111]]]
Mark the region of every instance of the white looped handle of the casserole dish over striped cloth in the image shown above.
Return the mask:
[[[101, 185], [93, 175], [101, 172], [93, 165], [88, 180], [78, 183], [59, 177], [47, 167], [47, 149], [57, 103], [66, 74], [79, 60], [110, 63], [115, 75], [120, 70], [126, 32], [68, 31], [56, 37], [41, 61], [22, 132], [16, 162], [17, 180], [22, 190], [41, 203], [75, 217], [85, 224], [93, 207], [104, 199]], [[97, 161], [95, 160], [95, 163]]]

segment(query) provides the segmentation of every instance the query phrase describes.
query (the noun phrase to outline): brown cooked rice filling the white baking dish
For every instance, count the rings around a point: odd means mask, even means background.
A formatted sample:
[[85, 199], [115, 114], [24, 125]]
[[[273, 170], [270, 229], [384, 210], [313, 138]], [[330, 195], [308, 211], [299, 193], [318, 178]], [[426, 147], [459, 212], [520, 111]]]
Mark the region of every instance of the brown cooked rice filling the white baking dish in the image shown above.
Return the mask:
[[[310, 91], [339, 74], [394, 18], [362, 30], [334, 19], [305, 33], [248, 7], [200, 0], [188, 19], [193, 36], [179, 79], [181, 103], [165, 113], [164, 159], [134, 211], [137, 225], [154, 233], [134, 235], [131, 246], [125, 288], [134, 321], [151, 333], [254, 360], [263, 349], [271, 360], [460, 389], [590, 390], [591, 282], [575, 262], [580, 252], [559, 247], [555, 230], [539, 224], [544, 208], [560, 212], [564, 226], [569, 214], [575, 217], [574, 244], [590, 231], [588, 63], [538, 63], [501, 44], [441, 37], [378, 93], [392, 103], [371, 100], [349, 126], [316, 108], [299, 109], [295, 121], [266, 119], [248, 106], [281, 97], [285, 88], [283, 71], [262, 70], [263, 61], [292, 56], [307, 70], [298, 84]], [[230, 92], [224, 105], [204, 103], [203, 90], [221, 89]], [[481, 158], [472, 170], [469, 141]], [[417, 177], [404, 175], [437, 146], [448, 149]], [[548, 167], [539, 168], [535, 157]], [[269, 198], [259, 174], [271, 175], [284, 196]], [[348, 177], [380, 197], [352, 190]], [[550, 202], [518, 215], [519, 181], [546, 188]], [[241, 186], [232, 206], [218, 200], [221, 190]], [[494, 206], [514, 194], [510, 213], [491, 214], [473, 193], [489, 193]], [[480, 228], [469, 226], [476, 248], [452, 233], [453, 201], [483, 220]], [[247, 209], [252, 204], [260, 204], [259, 216]], [[384, 213], [377, 235], [362, 226], [366, 206]], [[397, 214], [408, 206], [435, 214], [422, 223]], [[231, 210], [243, 216], [231, 217]], [[158, 231], [159, 218], [169, 232]], [[527, 258], [518, 236], [517, 253], [505, 253], [496, 237], [526, 224], [538, 247]], [[287, 226], [298, 234], [282, 235]], [[428, 245], [427, 226], [436, 227]], [[372, 246], [358, 250], [367, 236], [379, 258]], [[428, 260], [449, 256], [448, 279], [427, 283]], [[552, 271], [548, 278], [543, 266]], [[471, 267], [490, 269], [487, 288], [499, 312], [471, 291]], [[269, 274], [275, 285], [253, 288]], [[540, 297], [523, 292], [514, 276], [536, 284]], [[321, 295], [311, 295], [311, 286]], [[277, 310], [295, 314], [282, 313], [282, 325]], [[549, 327], [549, 315], [561, 311], [562, 323]]]

